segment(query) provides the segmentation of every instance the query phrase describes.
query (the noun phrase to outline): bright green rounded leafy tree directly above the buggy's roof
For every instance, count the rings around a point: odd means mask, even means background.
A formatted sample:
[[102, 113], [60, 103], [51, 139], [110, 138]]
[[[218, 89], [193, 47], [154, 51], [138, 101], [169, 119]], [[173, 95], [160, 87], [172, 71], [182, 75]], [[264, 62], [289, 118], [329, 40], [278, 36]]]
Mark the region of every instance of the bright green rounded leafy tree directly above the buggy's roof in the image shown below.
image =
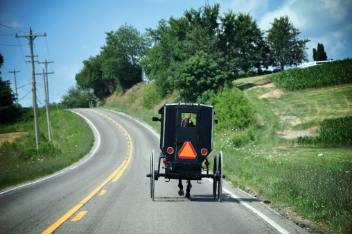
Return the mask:
[[195, 56], [184, 63], [177, 87], [186, 101], [196, 101], [202, 92], [217, 91], [225, 81], [225, 73], [222, 72], [218, 63], [204, 51], [197, 51]]

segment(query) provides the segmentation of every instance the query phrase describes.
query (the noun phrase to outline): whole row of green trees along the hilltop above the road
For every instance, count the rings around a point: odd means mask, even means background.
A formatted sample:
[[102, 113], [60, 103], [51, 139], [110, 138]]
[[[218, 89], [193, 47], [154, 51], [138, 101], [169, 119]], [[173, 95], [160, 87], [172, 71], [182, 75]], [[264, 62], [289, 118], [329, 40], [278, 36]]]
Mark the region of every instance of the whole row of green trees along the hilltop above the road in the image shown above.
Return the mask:
[[309, 40], [298, 38], [300, 31], [287, 16], [274, 19], [265, 36], [249, 13], [220, 15], [219, 9], [219, 3], [206, 3], [184, 10], [182, 17], [161, 19], [143, 34], [127, 24], [107, 32], [105, 45], [83, 61], [72, 88], [104, 99], [139, 83], [143, 70], [158, 97], [178, 90], [185, 101], [197, 101], [236, 78], [308, 61]]

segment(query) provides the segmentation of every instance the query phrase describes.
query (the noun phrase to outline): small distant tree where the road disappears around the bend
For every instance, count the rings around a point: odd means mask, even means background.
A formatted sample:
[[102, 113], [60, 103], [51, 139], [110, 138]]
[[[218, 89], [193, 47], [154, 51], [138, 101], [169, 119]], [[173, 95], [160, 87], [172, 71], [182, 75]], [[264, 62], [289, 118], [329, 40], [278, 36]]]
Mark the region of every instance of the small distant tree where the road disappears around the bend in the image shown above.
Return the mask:
[[61, 104], [67, 108], [89, 108], [89, 102], [96, 104], [96, 97], [92, 89], [79, 85], [69, 87], [67, 94], [61, 97]]

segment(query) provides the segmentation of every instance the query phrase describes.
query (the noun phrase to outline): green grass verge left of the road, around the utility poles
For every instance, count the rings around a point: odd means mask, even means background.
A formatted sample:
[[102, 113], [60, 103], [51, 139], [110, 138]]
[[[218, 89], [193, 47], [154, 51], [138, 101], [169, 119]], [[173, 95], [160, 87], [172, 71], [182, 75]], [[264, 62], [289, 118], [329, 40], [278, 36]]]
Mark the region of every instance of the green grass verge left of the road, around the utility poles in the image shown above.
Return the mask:
[[46, 176], [68, 167], [85, 156], [94, 135], [88, 124], [73, 112], [51, 111], [53, 142], [49, 142], [46, 114], [39, 108], [39, 151], [36, 149], [34, 121], [1, 126], [2, 133], [26, 132], [12, 143], [0, 147], [0, 189]]

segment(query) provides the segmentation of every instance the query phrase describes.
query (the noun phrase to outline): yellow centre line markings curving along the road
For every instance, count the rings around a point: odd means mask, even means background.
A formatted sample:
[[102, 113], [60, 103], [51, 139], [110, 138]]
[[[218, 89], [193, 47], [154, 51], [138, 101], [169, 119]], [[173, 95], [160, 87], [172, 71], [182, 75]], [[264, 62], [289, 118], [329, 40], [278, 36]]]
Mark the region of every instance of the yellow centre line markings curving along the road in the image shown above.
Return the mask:
[[113, 178], [114, 178], [114, 180], [112, 182], [116, 182], [118, 180], [118, 178], [120, 178], [120, 176], [123, 174], [123, 172], [127, 168], [128, 164], [130, 163], [131, 156], [132, 156], [132, 141], [131, 141], [130, 135], [128, 135], [127, 131], [125, 131], [125, 128], [123, 128], [120, 124], [118, 124], [118, 122], [116, 122], [114, 119], [110, 118], [109, 116], [104, 115], [103, 113], [98, 112], [96, 110], [91, 110], [91, 111], [94, 111], [100, 115], [103, 115], [104, 117], [107, 117], [112, 122], [114, 122], [114, 124], [119, 126], [119, 128], [122, 128], [122, 131], [127, 136], [127, 140], [128, 140], [129, 147], [130, 147], [129, 153], [127, 153], [128, 158], [127, 158], [127, 160], [124, 160], [123, 163], [120, 165], [120, 167], [118, 167], [101, 185], [99, 185], [93, 192], [91, 192], [85, 199], [80, 201], [80, 203], [78, 203], [75, 207], [73, 207], [64, 216], [62, 216], [60, 219], [58, 219], [58, 221], [56, 221], [54, 224], [49, 226], [49, 228], [46, 228], [46, 230], [44, 232], [42, 232], [42, 234], [52, 233], [56, 228], [58, 228], [58, 226], [63, 224], [67, 219], [69, 219], [69, 217], [71, 217], [75, 212], [77, 212], [77, 210], [79, 210], [83, 205], [85, 205], [85, 203], [87, 203], [92, 197], [94, 197], [94, 195], [98, 191], [100, 191], [107, 183], [109, 183], [109, 181], [111, 181]]

